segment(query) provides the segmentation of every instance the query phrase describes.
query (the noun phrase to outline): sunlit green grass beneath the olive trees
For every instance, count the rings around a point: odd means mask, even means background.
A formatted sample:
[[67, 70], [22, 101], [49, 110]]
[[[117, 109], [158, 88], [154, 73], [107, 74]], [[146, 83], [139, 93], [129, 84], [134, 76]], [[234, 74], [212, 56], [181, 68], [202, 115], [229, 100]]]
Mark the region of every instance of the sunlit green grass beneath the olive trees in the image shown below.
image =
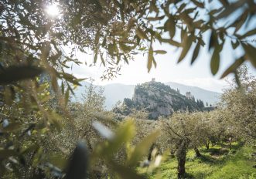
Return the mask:
[[[233, 150], [227, 145], [216, 145], [200, 149], [202, 157], [195, 157], [194, 151], [189, 150], [186, 157], [186, 178], [207, 179], [254, 179], [256, 178], [255, 157], [252, 147], [240, 147], [233, 144]], [[169, 158], [149, 178], [176, 178], [176, 158]], [[142, 169], [143, 171], [145, 169]]]

